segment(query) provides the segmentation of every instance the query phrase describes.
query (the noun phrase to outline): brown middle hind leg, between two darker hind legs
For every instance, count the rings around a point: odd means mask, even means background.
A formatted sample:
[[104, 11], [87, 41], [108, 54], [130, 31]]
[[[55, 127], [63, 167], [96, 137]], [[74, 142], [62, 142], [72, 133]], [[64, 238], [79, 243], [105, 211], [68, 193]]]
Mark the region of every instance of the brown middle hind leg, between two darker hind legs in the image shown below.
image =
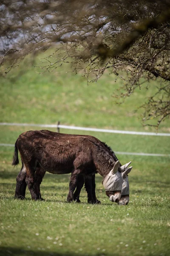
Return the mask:
[[32, 200], [38, 200], [37, 191], [34, 189], [34, 175], [35, 175], [35, 168], [31, 165], [26, 166], [26, 183], [28, 185], [28, 189], [31, 193]]

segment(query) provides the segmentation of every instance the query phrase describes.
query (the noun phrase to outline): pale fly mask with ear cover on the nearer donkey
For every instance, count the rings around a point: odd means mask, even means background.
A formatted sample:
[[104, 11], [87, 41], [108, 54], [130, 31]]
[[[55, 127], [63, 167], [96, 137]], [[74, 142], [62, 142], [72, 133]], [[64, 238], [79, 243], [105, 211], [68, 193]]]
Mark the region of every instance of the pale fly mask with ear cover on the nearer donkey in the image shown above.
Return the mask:
[[108, 175], [103, 180], [103, 186], [106, 191], [121, 191], [122, 190], [122, 183], [123, 183], [123, 178], [122, 178], [122, 173], [118, 172], [119, 168], [119, 161], [117, 161], [111, 172], [109, 172]]

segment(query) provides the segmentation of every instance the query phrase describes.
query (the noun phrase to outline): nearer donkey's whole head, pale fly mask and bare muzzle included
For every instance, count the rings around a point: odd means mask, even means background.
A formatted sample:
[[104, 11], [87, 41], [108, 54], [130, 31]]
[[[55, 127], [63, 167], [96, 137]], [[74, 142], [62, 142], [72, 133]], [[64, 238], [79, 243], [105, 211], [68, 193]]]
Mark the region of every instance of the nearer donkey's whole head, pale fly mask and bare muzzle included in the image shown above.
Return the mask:
[[123, 178], [122, 174], [118, 171], [119, 164], [119, 161], [117, 161], [111, 172], [103, 180], [106, 195], [112, 202], [118, 202], [121, 198]]

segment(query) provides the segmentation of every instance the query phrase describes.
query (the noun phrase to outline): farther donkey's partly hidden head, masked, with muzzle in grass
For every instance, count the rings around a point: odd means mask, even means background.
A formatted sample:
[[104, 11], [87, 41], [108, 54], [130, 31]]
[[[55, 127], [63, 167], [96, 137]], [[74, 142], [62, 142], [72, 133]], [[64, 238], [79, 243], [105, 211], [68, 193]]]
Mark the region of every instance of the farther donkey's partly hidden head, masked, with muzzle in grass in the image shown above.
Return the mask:
[[122, 184], [122, 195], [120, 200], [118, 201], [119, 205], [127, 205], [129, 203], [129, 180], [128, 180], [128, 174], [130, 173], [131, 169], [133, 168], [130, 166], [131, 162], [126, 163], [124, 166], [120, 167], [122, 178], [123, 178], [123, 184]]

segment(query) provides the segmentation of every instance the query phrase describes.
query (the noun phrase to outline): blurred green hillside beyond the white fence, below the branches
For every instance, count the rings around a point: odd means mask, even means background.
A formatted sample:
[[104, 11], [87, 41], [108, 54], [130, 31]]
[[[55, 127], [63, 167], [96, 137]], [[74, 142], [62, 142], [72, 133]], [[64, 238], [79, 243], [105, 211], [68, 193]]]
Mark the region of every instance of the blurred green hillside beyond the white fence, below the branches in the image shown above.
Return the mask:
[[[47, 52], [44, 55], [48, 55]], [[117, 104], [122, 99], [113, 96], [125, 81], [120, 77], [116, 80], [109, 71], [96, 83], [87, 85], [83, 74], [71, 73], [68, 63], [51, 73], [39, 74], [42, 70], [30, 61], [31, 58], [27, 58], [1, 77], [0, 122], [52, 124], [60, 121], [65, 125], [155, 131], [155, 128], [142, 126], [139, 107], [155, 90], [158, 80], [143, 84], [141, 90], [136, 89], [124, 103]], [[161, 131], [170, 131], [170, 120], [161, 123]]]

